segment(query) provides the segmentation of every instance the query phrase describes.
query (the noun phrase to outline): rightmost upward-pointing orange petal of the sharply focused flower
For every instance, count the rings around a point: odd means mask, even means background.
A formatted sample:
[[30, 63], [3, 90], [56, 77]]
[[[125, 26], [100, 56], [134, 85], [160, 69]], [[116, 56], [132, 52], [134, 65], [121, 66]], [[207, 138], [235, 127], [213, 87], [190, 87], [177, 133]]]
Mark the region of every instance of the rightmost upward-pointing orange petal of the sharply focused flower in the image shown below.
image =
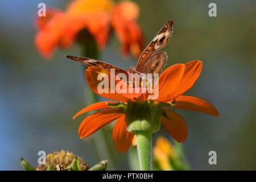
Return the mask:
[[190, 61], [189, 63], [185, 64], [184, 75], [179, 85], [176, 87], [174, 97], [178, 97], [185, 93], [195, 84], [201, 73], [202, 67], [203, 63], [200, 60]]

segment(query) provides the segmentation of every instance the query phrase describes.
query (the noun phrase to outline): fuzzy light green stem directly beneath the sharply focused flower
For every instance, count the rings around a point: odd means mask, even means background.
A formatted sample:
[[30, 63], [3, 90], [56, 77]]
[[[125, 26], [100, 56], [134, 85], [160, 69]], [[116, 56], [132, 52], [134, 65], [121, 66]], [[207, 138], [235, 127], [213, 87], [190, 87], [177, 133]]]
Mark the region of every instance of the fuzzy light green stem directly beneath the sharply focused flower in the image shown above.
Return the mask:
[[152, 134], [150, 131], [141, 131], [136, 134], [136, 137], [139, 166], [142, 171], [150, 171], [152, 169]]

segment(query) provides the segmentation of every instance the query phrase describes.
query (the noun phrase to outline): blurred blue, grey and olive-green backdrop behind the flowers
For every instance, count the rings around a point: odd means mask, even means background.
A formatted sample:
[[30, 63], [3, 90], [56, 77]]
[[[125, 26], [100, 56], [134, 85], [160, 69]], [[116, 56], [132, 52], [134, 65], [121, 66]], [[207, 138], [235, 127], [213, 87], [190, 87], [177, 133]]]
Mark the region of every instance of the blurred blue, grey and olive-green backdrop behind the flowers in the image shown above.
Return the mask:
[[[59, 49], [44, 60], [34, 45], [38, 3], [65, 10], [69, 1], [0, 1], [0, 162], [1, 170], [21, 170], [20, 157], [36, 166], [38, 151], [72, 151], [91, 166], [108, 156], [98, 154], [98, 132], [80, 139], [82, 117], [72, 121], [90, 104], [84, 67], [64, 55], [81, 56], [79, 44]], [[141, 9], [139, 23], [146, 44], [167, 22], [174, 20], [171, 42], [163, 48], [168, 66], [203, 61], [203, 71], [186, 94], [204, 98], [220, 113], [213, 117], [177, 110], [188, 125], [184, 150], [192, 170], [256, 169], [256, 39], [255, 1], [135, 1]], [[217, 17], [208, 16], [208, 5], [217, 4]], [[100, 60], [121, 68], [137, 60], [123, 58], [113, 35]], [[104, 98], [100, 98], [104, 100]], [[111, 139], [109, 169], [133, 169], [131, 150], [119, 153]], [[154, 134], [167, 134], [161, 130]], [[96, 139], [97, 140], [97, 139]], [[98, 141], [98, 140], [97, 140]], [[209, 165], [208, 152], [217, 152], [217, 165]]]

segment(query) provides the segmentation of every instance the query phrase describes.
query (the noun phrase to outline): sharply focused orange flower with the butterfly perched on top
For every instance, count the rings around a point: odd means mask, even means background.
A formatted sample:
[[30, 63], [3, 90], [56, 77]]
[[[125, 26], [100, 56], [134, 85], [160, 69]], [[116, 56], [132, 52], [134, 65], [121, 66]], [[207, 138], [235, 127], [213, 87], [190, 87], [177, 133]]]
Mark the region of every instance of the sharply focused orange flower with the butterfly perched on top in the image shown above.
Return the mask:
[[[97, 94], [100, 94], [100, 96], [121, 102], [97, 102], [88, 107], [85, 107], [79, 113], [77, 113], [73, 119], [78, 115], [88, 111], [105, 109], [89, 115], [84, 119], [84, 121], [81, 122], [79, 127], [80, 138], [88, 137], [89, 135], [99, 130], [101, 127], [112, 121], [115, 121], [115, 119], [118, 119], [113, 129], [113, 140], [115, 147], [117, 147], [119, 151], [126, 151], [130, 147], [130, 144], [133, 142], [134, 134], [127, 131], [129, 128], [127, 127], [127, 123], [130, 119], [130, 115], [127, 114], [127, 111], [125, 111], [123, 108], [128, 106], [133, 107], [138, 105], [138, 102], [143, 103], [148, 101], [151, 105], [154, 106], [162, 104], [158, 113], [160, 122], [167, 129], [168, 133], [170, 133], [172, 137], [177, 140], [177, 142], [184, 142], [187, 138], [187, 124], [181, 115], [177, 114], [175, 111], [167, 109], [166, 107], [196, 110], [202, 113], [218, 116], [218, 111], [209, 102], [198, 97], [181, 96], [181, 94], [185, 93], [193, 86], [193, 84], [195, 84], [201, 73], [202, 67], [203, 63], [200, 60], [195, 60], [190, 61], [187, 64], [175, 64], [167, 68], [158, 79], [159, 97], [155, 100], [148, 100], [148, 93], [112, 93], [110, 87], [108, 93], [99, 93], [97, 86], [101, 81], [97, 80], [98, 75], [102, 72], [108, 75], [110, 75], [110, 73], [104, 68], [89, 67], [85, 71], [85, 76], [90, 88]], [[118, 82], [116, 81], [115, 85], [117, 83]], [[117, 107], [113, 108], [114, 105], [117, 105]], [[122, 105], [125, 106], [122, 108]], [[143, 109], [143, 107], [140, 108]], [[135, 109], [135, 114], [137, 112], [139, 117], [141, 117], [141, 113], [143, 113], [142, 109]], [[148, 111], [145, 113], [148, 114], [147, 112]]]

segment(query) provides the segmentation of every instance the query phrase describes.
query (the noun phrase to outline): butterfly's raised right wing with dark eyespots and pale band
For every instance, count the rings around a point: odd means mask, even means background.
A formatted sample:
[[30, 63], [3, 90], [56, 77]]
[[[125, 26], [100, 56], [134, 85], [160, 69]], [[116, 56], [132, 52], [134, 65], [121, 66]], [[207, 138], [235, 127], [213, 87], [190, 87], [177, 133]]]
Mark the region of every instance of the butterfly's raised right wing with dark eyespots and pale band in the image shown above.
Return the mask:
[[[139, 57], [136, 71], [141, 73], [160, 73], [162, 71], [164, 68], [163, 65], [165, 65], [167, 62], [167, 55], [163, 52], [156, 52], [159, 51], [162, 47], [166, 46], [168, 42], [170, 42], [173, 31], [173, 24], [174, 23], [172, 20], [168, 20], [168, 22], [164, 24], [163, 28], [161, 28], [158, 34], [156, 34], [155, 38], [150, 42], [146, 49], [144, 49], [141, 57]], [[154, 59], [156, 60], [154, 61]], [[151, 67], [150, 63], [155, 63], [155, 65]], [[145, 72], [148, 70], [151, 72]]]

